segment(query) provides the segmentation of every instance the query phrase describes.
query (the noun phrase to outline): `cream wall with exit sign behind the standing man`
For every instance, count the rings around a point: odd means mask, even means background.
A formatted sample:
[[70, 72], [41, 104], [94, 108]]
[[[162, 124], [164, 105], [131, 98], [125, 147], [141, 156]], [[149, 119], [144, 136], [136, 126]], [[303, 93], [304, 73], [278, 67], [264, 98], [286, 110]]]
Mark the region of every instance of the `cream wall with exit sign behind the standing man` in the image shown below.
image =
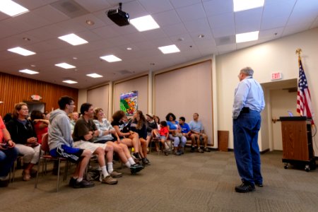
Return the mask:
[[[218, 89], [218, 129], [230, 131], [229, 148], [233, 147], [232, 142], [232, 103], [235, 86], [237, 86], [237, 74], [245, 66], [254, 69], [254, 78], [259, 83], [271, 82], [272, 72], [283, 73], [283, 80], [298, 78], [298, 57], [295, 50], [302, 49], [302, 64], [307, 76], [308, 85], [312, 95], [312, 106], [317, 112], [318, 90], [314, 81], [318, 78], [318, 28], [308, 30], [305, 33], [298, 33], [278, 40], [266, 42], [261, 45], [238, 50], [229, 54], [216, 57], [216, 75]], [[265, 110], [270, 107], [269, 99], [266, 98]], [[265, 111], [266, 114], [267, 111]], [[268, 112], [267, 112], [268, 113]], [[262, 115], [264, 117], [264, 115]], [[270, 131], [269, 116], [264, 117], [262, 125]], [[317, 117], [314, 119], [318, 123]], [[263, 129], [261, 129], [263, 130]], [[261, 150], [266, 149], [271, 137], [262, 134], [259, 139]], [[314, 145], [315, 153], [318, 154]], [[265, 147], [265, 148], [263, 148]]]

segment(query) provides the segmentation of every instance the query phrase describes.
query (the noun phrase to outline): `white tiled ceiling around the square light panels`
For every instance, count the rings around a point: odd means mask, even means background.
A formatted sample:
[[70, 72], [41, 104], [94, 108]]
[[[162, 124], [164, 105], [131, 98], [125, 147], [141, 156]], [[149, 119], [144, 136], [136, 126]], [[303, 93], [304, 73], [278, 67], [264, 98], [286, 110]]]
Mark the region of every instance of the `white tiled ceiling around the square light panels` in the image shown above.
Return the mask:
[[[237, 13], [232, 11], [232, 0], [73, 0], [88, 11], [76, 18], [54, 8], [52, 3], [57, 0], [15, 1], [30, 12], [13, 18], [0, 12], [0, 71], [72, 88], [88, 88], [318, 27], [318, 0], [265, 0], [263, 8]], [[119, 2], [130, 18], [150, 14], [160, 28], [139, 33], [132, 25], [119, 27], [112, 23], [105, 11], [118, 8]], [[86, 20], [93, 20], [95, 25], [87, 25]], [[256, 30], [259, 40], [235, 43], [235, 34]], [[69, 33], [89, 43], [72, 46], [57, 38]], [[158, 49], [172, 44], [181, 52], [162, 54]], [[7, 51], [17, 46], [37, 54], [23, 57]], [[122, 61], [101, 61], [106, 54]], [[54, 66], [61, 62], [76, 69]], [[28, 75], [18, 72], [20, 69], [40, 73]], [[104, 77], [90, 78], [88, 73]], [[61, 82], [66, 79], [78, 83]]]

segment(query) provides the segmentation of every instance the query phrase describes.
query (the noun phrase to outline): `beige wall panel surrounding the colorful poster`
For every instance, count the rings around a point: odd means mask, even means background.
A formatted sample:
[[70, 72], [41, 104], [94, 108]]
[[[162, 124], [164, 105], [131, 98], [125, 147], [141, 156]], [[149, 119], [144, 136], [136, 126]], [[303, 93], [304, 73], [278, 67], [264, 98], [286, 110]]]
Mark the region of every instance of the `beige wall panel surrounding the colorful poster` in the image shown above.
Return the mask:
[[113, 112], [120, 110], [119, 100], [122, 93], [128, 93], [130, 91], [138, 91], [138, 110], [141, 110], [143, 114], [148, 113], [148, 75], [139, 76], [136, 78], [130, 78], [124, 81], [114, 82], [114, 98]]

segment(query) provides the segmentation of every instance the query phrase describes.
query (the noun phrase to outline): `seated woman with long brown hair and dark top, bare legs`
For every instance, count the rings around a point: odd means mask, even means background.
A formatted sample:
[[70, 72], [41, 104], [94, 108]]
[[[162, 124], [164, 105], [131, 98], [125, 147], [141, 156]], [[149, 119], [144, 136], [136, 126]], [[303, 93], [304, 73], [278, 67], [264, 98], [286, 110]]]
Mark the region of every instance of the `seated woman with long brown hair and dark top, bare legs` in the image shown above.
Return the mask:
[[132, 119], [130, 129], [132, 131], [135, 131], [139, 135], [139, 141], [142, 148], [141, 160], [143, 162], [143, 165], [151, 165], [150, 161], [147, 158], [147, 122], [141, 110], [137, 110], [134, 114], [134, 119]]

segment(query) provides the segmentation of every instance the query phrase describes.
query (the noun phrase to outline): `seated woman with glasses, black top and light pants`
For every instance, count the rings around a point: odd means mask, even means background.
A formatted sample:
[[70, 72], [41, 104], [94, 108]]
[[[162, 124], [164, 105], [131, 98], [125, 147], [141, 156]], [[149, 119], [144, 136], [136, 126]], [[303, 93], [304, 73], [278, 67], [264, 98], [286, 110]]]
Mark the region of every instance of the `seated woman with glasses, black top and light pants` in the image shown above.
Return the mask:
[[16, 148], [23, 155], [23, 180], [31, 178], [32, 167], [38, 162], [40, 146], [37, 143], [37, 134], [34, 126], [28, 117], [28, 106], [24, 102], [15, 105], [13, 119], [8, 122], [7, 129], [11, 134], [11, 139], [16, 143]]

